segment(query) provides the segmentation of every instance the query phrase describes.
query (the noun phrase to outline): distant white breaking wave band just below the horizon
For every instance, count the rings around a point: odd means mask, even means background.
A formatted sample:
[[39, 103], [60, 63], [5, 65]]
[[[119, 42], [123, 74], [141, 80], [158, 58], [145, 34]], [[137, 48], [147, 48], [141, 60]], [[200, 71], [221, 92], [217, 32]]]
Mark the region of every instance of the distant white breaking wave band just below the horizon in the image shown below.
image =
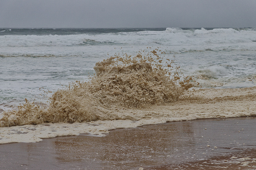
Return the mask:
[[[36, 30], [36, 29], [35, 29]], [[3, 30], [4, 31], [4, 30]], [[4, 35], [0, 47], [40, 47], [77, 45], [162, 45], [182, 47], [182, 51], [196, 50], [256, 50], [256, 29], [181, 29], [166, 28], [164, 31], [142, 30], [116, 33], [71, 35]], [[244, 44], [243, 44], [244, 43]], [[249, 44], [251, 43], [251, 44]]]

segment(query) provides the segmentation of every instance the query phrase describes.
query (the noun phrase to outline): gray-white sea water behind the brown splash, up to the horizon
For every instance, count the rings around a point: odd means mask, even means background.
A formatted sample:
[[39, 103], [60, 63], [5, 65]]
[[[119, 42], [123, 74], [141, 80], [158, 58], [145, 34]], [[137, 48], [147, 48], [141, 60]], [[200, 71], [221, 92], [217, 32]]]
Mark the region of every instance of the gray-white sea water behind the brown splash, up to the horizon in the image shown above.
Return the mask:
[[255, 28], [5, 28], [0, 29], [0, 112], [25, 98], [47, 105], [58, 89], [88, 81], [95, 63], [118, 53], [136, 56], [148, 47], [160, 48], [165, 59], [175, 56], [180, 71], [199, 82], [195, 88], [255, 86]]

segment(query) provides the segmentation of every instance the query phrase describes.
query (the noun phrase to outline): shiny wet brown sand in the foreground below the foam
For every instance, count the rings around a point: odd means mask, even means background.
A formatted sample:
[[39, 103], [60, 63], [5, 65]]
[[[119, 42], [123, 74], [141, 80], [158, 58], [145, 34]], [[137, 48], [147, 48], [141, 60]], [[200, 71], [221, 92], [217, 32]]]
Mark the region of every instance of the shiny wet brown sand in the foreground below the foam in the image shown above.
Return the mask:
[[116, 129], [0, 145], [0, 169], [256, 169], [256, 117]]

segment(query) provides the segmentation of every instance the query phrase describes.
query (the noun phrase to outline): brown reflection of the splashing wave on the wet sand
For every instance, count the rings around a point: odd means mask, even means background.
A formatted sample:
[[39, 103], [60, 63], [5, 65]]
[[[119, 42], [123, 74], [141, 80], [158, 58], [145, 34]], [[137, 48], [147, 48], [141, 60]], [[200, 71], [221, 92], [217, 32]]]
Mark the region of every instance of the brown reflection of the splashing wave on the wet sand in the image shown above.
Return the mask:
[[[177, 126], [177, 124], [179, 124]], [[159, 159], [168, 162], [183, 146], [195, 147], [194, 132], [190, 123], [168, 123], [162, 126], [145, 126], [115, 130], [106, 137], [79, 136], [58, 139], [54, 142], [56, 159], [61, 162], [92, 161], [94, 167], [120, 166], [125, 168], [152, 166]], [[179, 138], [177, 138], [179, 137]], [[80, 157], [81, 155], [84, 155]], [[159, 164], [160, 165], [160, 164]], [[110, 168], [110, 167], [108, 167]]]

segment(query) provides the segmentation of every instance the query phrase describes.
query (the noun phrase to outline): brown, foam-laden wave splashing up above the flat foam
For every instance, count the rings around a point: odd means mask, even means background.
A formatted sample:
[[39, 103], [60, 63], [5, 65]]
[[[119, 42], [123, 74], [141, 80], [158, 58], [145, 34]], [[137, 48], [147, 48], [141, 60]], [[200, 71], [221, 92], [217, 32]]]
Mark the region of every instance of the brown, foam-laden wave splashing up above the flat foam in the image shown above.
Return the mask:
[[94, 70], [96, 75], [90, 81], [73, 82], [67, 89], [55, 92], [49, 106], [25, 99], [18, 109], [2, 114], [0, 126], [132, 120], [132, 115], [120, 116], [113, 111], [180, 100], [195, 83], [191, 77], [182, 76], [174, 60], [164, 59], [159, 49], [148, 54], [140, 51], [135, 57], [117, 54], [96, 63]]

